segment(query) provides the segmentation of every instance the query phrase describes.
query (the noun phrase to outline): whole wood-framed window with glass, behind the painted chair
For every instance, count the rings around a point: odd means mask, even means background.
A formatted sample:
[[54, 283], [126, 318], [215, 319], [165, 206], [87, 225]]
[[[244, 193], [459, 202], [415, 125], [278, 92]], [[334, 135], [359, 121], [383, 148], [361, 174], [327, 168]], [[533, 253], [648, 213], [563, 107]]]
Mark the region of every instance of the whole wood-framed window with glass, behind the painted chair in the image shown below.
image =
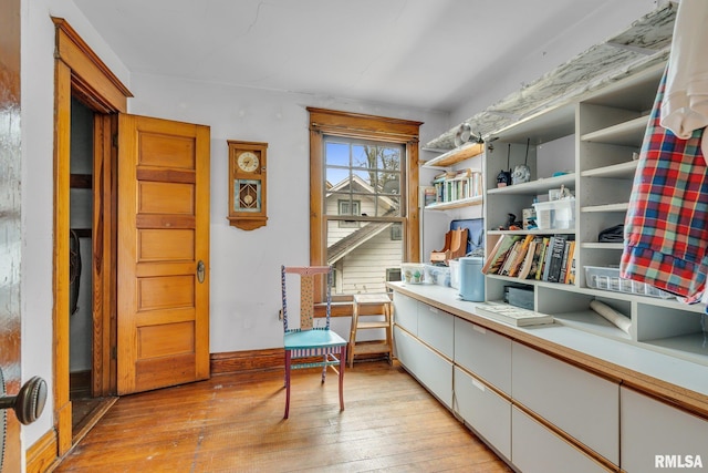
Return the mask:
[[384, 292], [387, 269], [418, 259], [419, 122], [308, 109], [311, 263], [333, 296]]

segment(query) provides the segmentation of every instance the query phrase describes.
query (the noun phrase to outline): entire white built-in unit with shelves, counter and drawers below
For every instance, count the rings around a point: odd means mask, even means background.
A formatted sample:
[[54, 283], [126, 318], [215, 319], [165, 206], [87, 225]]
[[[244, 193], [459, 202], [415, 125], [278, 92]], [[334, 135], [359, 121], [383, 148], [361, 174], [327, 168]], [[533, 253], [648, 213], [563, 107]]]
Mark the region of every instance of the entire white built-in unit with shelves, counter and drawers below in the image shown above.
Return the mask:
[[[705, 306], [636, 281], [606, 284], [607, 290], [597, 284], [621, 261], [623, 243], [598, 241], [598, 235], [623, 224], [629, 207], [671, 19], [669, 4], [633, 23], [632, 34], [612, 40], [622, 71], [587, 83], [604, 74], [594, 69], [602, 48], [592, 49], [466, 122], [486, 142], [480, 167], [487, 256], [510, 235], [562, 235], [576, 248], [572, 284], [488, 274], [485, 298], [501, 300], [510, 286], [529, 289], [533, 309], [552, 315], [554, 323], [516, 327], [486, 317], [450, 288], [389, 284], [402, 364], [514, 470], [566, 471], [572, 464], [577, 471], [649, 471], [657, 452], [705, 451]], [[633, 41], [644, 53], [657, 52], [629, 60], [625, 53], [639, 51], [627, 48]], [[442, 147], [454, 135], [451, 130], [428, 146]], [[458, 153], [444, 152], [425, 166], [455, 166]], [[524, 162], [530, 182], [497, 186], [499, 171]], [[520, 220], [524, 209], [561, 187], [575, 196], [574, 223], [563, 225], [571, 228], [502, 229], [510, 214]], [[593, 301], [620, 312], [628, 326], [602, 317]]]

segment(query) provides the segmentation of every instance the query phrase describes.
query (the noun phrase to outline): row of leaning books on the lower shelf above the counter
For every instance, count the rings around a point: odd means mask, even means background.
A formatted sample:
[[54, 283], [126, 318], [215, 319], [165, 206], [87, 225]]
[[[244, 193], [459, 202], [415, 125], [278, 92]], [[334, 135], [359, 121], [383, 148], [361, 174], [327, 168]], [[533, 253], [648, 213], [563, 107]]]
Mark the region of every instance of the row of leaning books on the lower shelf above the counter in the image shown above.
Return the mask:
[[482, 274], [575, 284], [575, 240], [569, 235], [501, 235]]

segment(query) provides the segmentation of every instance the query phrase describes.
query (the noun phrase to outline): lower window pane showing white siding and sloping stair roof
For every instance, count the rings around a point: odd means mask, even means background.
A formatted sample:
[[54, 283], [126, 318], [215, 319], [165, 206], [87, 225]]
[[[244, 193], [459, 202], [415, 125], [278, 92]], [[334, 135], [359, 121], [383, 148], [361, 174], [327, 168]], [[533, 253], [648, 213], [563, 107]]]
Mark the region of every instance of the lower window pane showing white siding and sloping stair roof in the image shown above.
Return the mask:
[[358, 227], [327, 223], [327, 264], [334, 267], [334, 295], [385, 292], [386, 278], [396, 280], [403, 258], [398, 223], [360, 222]]

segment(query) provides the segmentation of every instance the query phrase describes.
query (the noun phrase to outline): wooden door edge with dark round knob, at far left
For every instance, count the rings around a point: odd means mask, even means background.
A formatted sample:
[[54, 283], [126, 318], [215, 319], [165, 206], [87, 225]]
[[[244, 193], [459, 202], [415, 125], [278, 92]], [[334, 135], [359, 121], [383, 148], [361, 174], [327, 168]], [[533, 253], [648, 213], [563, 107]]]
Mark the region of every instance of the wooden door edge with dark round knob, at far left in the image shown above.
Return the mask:
[[[0, 0], [0, 369], [7, 387], [20, 389], [20, 259], [22, 136], [20, 121], [20, 2]], [[6, 391], [7, 388], [7, 391]], [[0, 471], [20, 471], [20, 423], [0, 411]]]

